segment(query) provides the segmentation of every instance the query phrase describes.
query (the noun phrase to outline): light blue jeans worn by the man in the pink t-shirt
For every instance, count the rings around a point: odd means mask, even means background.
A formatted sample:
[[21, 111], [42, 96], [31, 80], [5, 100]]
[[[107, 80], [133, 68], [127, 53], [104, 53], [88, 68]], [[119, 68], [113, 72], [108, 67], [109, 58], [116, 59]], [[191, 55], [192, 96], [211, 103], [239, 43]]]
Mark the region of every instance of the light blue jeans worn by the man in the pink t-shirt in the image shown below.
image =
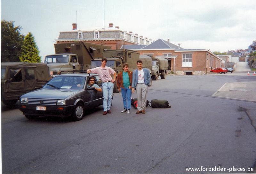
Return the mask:
[[103, 110], [110, 110], [112, 104], [114, 83], [112, 82], [103, 82], [102, 91], [103, 91]]

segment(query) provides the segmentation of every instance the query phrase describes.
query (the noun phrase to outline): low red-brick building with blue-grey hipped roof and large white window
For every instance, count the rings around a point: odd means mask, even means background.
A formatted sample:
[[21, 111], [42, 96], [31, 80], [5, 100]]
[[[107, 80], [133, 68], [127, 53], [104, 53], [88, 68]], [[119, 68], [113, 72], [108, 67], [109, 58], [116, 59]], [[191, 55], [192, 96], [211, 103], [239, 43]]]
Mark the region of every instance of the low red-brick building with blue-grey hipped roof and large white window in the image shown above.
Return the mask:
[[209, 73], [212, 68], [221, 67], [222, 60], [207, 49], [184, 49], [168, 41], [158, 39], [148, 45], [124, 45], [121, 49], [132, 49], [141, 55], [163, 57], [169, 62], [169, 69], [178, 75], [199, 75]]

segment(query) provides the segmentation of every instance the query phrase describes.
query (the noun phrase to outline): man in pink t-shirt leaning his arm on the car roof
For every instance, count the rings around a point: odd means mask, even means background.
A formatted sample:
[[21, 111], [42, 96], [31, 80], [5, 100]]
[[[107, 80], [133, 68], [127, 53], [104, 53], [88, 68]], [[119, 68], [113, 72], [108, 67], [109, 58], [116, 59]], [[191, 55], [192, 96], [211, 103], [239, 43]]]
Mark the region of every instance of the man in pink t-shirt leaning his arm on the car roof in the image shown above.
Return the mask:
[[[111, 103], [112, 103], [112, 97], [113, 97], [113, 89], [114, 89], [114, 82], [116, 81], [116, 72], [106, 66], [107, 64], [107, 58], [103, 57], [101, 59], [101, 66], [88, 69], [87, 73], [96, 73], [99, 75], [100, 79], [102, 80], [102, 91], [103, 91], [103, 115], [106, 115], [107, 113], [111, 114], [110, 108], [111, 108]], [[114, 74], [112, 77], [110, 74]]]

